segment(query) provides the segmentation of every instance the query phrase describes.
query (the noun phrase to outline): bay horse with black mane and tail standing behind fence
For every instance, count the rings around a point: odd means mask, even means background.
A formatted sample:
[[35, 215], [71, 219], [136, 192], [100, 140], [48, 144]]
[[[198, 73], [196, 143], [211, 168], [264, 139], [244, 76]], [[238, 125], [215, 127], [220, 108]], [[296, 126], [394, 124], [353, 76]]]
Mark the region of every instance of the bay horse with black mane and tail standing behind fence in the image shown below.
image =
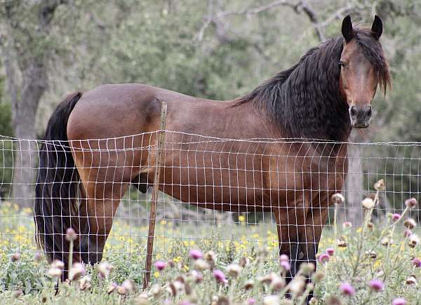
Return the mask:
[[[131, 184], [145, 192], [153, 183], [152, 147], [165, 101], [159, 189], [204, 208], [273, 212], [279, 252], [290, 257], [294, 276], [299, 262], [315, 263], [329, 198], [342, 190], [347, 146], [340, 142], [352, 127], [368, 127], [377, 85], [390, 86], [381, 34], [377, 16], [371, 29], [352, 27], [347, 16], [342, 36], [231, 101], [140, 84], [69, 95], [51, 116], [40, 151], [39, 245], [49, 259], [67, 262], [64, 234], [73, 227], [80, 236], [73, 259], [102, 259], [123, 194]], [[240, 141], [251, 138], [272, 140]]]

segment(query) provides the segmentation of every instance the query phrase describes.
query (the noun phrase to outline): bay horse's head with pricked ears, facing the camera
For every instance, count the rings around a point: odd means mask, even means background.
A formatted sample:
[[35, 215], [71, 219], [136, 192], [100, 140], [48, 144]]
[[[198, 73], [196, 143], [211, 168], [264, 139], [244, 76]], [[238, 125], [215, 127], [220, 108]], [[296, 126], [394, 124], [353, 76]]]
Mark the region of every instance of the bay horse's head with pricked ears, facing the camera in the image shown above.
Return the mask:
[[377, 15], [371, 29], [352, 27], [349, 15], [342, 21], [344, 48], [340, 56], [340, 91], [349, 105], [352, 127], [367, 128], [377, 85], [391, 84], [389, 67], [378, 41], [383, 25]]

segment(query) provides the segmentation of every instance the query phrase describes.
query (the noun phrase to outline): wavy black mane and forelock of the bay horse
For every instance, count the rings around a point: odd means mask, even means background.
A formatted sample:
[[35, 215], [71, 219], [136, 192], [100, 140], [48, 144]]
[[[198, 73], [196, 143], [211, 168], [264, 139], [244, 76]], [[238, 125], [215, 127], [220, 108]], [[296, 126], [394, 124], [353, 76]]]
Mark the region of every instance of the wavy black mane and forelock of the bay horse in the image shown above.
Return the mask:
[[[382, 46], [369, 29], [356, 27], [354, 35], [385, 90], [390, 75]], [[346, 141], [351, 123], [339, 85], [343, 43], [340, 36], [310, 49], [296, 65], [240, 97], [237, 104], [253, 102], [283, 137]]]

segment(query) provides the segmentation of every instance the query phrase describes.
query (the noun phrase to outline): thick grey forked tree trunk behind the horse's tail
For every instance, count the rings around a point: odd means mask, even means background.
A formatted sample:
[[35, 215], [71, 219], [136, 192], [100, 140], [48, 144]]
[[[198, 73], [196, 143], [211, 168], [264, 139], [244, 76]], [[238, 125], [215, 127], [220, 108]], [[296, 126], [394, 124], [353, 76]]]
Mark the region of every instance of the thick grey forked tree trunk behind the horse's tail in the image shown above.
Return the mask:
[[[11, 2], [6, 8], [2, 21], [3, 37], [0, 39], [1, 55], [3, 57], [8, 79], [8, 93], [11, 97], [12, 124], [15, 137], [19, 140], [13, 143], [13, 201], [20, 207], [32, 208], [34, 202], [35, 170], [38, 164], [39, 145], [35, 141], [35, 118], [39, 101], [48, 87], [47, 62], [48, 50], [37, 50], [34, 41], [48, 36], [51, 20], [56, 8], [65, 0], [39, 1], [37, 26], [35, 32], [19, 33], [21, 20], [13, 13]], [[15, 33], [18, 33], [15, 35]], [[25, 34], [25, 46], [15, 41]], [[3, 39], [6, 38], [6, 39]], [[31, 53], [26, 50], [34, 47]], [[22, 82], [19, 83], [18, 71]]]

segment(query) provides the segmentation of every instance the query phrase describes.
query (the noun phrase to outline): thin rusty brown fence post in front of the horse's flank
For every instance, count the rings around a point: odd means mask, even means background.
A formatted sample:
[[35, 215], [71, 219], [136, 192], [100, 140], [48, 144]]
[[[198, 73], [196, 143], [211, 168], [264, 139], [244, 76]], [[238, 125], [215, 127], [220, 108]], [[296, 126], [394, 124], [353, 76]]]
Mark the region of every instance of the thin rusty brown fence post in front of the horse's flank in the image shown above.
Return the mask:
[[145, 277], [143, 278], [143, 289], [145, 289], [151, 278], [151, 268], [152, 268], [152, 252], [154, 252], [154, 237], [155, 237], [155, 222], [156, 222], [156, 201], [158, 201], [158, 191], [159, 191], [159, 179], [161, 176], [161, 166], [163, 163], [162, 160], [162, 151], [163, 144], [165, 142], [165, 128], [166, 128], [166, 113], [167, 113], [167, 104], [162, 102], [161, 105], [161, 122], [159, 125], [159, 132], [157, 135], [157, 144], [156, 144], [156, 167], [154, 172], [154, 187], [152, 189], [152, 199], [151, 199], [151, 212], [149, 215], [149, 229], [147, 234], [147, 255], [146, 255], [146, 265], [145, 265]]

